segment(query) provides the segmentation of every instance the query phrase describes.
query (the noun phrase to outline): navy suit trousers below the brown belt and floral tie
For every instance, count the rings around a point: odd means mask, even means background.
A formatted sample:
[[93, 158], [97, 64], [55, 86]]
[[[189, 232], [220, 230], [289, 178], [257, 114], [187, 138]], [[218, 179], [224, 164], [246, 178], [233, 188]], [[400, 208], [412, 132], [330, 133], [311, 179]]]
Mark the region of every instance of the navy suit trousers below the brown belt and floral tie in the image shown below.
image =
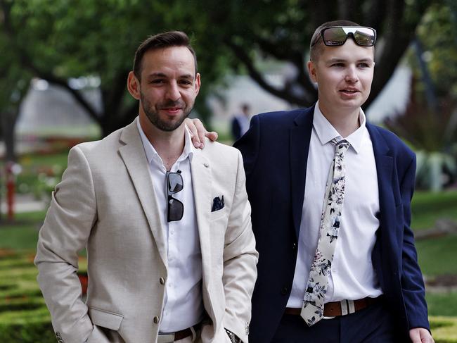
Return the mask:
[[284, 315], [271, 343], [396, 343], [391, 313], [381, 303], [308, 327], [300, 316]]

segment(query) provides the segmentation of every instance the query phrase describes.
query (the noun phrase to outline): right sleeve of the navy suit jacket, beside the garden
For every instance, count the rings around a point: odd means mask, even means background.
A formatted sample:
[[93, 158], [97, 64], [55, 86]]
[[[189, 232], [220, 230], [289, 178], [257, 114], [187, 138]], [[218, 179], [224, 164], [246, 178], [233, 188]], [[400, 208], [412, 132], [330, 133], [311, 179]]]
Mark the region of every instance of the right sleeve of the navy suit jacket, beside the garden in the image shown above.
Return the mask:
[[411, 225], [411, 199], [416, 179], [416, 158], [411, 163], [400, 181], [401, 202], [404, 213], [404, 234], [402, 247], [401, 288], [408, 316], [409, 328], [426, 328], [430, 331], [425, 302], [425, 286], [418, 265], [418, 256], [414, 246]]

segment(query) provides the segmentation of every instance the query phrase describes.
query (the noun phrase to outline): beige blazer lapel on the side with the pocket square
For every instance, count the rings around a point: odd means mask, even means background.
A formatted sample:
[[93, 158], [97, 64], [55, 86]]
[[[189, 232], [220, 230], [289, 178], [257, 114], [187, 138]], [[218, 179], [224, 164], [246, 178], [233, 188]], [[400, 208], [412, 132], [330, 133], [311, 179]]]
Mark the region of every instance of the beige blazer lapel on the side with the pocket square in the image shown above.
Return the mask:
[[210, 162], [200, 149], [193, 149], [191, 161], [193, 199], [202, 252], [203, 287], [208, 289], [211, 274], [210, 213], [212, 174]]

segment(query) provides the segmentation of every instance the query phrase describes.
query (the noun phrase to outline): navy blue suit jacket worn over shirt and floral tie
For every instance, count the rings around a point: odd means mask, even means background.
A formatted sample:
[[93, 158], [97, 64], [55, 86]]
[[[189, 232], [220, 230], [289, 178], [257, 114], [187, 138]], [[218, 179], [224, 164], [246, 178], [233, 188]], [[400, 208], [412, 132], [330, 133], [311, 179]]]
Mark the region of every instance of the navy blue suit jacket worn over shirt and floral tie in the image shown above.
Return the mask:
[[[288, 302], [306, 171], [312, 168], [307, 166], [307, 158], [313, 116], [314, 106], [255, 116], [250, 130], [235, 144], [243, 154], [259, 251], [252, 297], [252, 343], [271, 341]], [[380, 201], [373, 267], [398, 325], [397, 335], [401, 335], [401, 342], [408, 342], [409, 329], [429, 328], [423, 277], [409, 227], [416, 157], [392, 132], [366, 126], [373, 142]]]

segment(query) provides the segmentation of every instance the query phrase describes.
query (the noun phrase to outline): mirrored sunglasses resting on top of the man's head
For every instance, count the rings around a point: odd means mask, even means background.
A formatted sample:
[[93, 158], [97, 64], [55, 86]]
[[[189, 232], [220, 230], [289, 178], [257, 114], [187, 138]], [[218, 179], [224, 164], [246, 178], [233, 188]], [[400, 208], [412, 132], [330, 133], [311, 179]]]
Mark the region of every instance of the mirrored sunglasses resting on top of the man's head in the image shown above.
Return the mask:
[[360, 46], [373, 46], [376, 42], [376, 30], [366, 26], [330, 26], [321, 30], [321, 35], [314, 40], [314, 46], [322, 37], [326, 46], [340, 46], [345, 44], [347, 37], [352, 36], [354, 42]]

